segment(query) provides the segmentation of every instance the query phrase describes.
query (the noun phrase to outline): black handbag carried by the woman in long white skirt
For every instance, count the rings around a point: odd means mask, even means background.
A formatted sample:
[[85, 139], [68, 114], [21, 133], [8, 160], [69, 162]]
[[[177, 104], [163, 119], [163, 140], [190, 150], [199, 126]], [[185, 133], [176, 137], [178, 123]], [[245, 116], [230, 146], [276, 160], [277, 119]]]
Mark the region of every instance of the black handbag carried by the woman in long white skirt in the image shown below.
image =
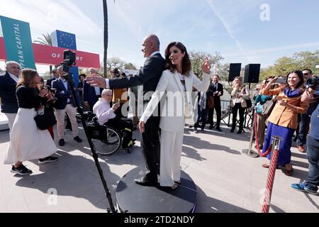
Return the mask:
[[44, 106], [44, 113], [37, 114], [37, 116], [34, 117], [34, 121], [40, 130], [46, 130], [54, 126], [57, 123], [54, 109], [51, 108], [49, 104], [46, 104]]

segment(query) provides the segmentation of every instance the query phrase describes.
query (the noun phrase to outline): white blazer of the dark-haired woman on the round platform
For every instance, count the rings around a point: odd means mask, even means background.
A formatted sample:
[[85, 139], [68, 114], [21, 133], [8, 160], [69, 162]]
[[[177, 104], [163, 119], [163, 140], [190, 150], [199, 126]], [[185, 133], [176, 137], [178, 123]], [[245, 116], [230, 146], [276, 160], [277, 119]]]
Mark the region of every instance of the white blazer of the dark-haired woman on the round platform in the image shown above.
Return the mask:
[[203, 82], [201, 82], [193, 72], [189, 72], [189, 76], [185, 76], [184, 78], [186, 92], [184, 92], [184, 86], [181, 84], [177, 72], [165, 70], [140, 121], [146, 123], [165, 94], [164, 103], [161, 102], [160, 104], [161, 118], [159, 127], [164, 131], [182, 132], [184, 131], [185, 123], [194, 124], [191, 91], [195, 87], [198, 91], [206, 92], [211, 83], [211, 77], [210, 74], [203, 72]]

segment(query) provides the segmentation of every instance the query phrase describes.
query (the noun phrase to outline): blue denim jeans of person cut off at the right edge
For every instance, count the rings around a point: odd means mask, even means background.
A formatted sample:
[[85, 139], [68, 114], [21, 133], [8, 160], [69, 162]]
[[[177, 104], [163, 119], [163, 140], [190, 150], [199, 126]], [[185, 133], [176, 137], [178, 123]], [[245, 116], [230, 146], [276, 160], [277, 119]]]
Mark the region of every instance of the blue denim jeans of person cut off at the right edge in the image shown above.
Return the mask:
[[319, 140], [308, 135], [307, 141], [309, 171], [306, 182], [311, 186], [319, 186]]

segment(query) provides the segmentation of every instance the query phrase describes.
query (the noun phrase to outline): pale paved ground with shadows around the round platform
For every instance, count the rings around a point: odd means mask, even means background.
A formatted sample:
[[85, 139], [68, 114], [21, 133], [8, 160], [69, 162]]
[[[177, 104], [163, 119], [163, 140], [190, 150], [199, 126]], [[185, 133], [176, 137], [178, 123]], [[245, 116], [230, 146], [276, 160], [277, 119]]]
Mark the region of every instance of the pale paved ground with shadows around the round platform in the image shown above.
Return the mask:
[[[55, 131], [56, 132], [56, 131]], [[237, 135], [223, 126], [223, 133], [206, 130], [194, 134], [185, 130], [182, 169], [197, 185], [197, 212], [260, 212], [262, 189], [268, 170], [263, 158], [242, 155], [250, 133]], [[80, 130], [84, 138], [84, 131]], [[138, 131], [135, 137], [140, 138]], [[56, 140], [57, 142], [57, 140]], [[0, 163], [9, 144], [9, 131], [0, 131]], [[43, 148], [45, 149], [45, 148]], [[293, 148], [293, 177], [276, 170], [272, 194], [272, 213], [318, 212], [319, 196], [296, 192], [291, 183], [302, 182], [308, 171], [306, 155]], [[11, 166], [0, 164], [0, 212], [104, 212], [107, 201], [89, 145], [77, 143], [67, 131], [66, 145], [57, 153], [57, 162], [38, 165], [25, 162], [33, 174], [18, 177]], [[117, 182], [126, 172], [143, 165], [140, 143], [132, 153], [100, 157], [106, 182], [115, 201]], [[53, 189], [53, 191], [52, 191]], [[56, 190], [57, 198], [50, 196]]]

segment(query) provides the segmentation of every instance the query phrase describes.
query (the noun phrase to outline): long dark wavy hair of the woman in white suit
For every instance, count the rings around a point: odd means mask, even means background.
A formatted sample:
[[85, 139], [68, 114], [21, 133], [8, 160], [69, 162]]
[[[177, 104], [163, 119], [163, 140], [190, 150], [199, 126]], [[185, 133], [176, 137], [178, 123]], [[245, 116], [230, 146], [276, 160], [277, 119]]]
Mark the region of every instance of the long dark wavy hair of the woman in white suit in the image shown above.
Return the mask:
[[183, 43], [180, 42], [172, 42], [167, 45], [167, 48], [165, 50], [165, 68], [171, 72], [176, 71], [176, 65], [173, 65], [171, 60], [169, 60], [169, 49], [172, 48], [172, 46], [176, 46], [181, 50], [181, 53], [185, 53], [183, 60], [181, 61], [181, 74], [188, 76], [189, 72], [191, 71], [191, 60], [189, 60], [189, 54], [187, 53], [187, 50]]

